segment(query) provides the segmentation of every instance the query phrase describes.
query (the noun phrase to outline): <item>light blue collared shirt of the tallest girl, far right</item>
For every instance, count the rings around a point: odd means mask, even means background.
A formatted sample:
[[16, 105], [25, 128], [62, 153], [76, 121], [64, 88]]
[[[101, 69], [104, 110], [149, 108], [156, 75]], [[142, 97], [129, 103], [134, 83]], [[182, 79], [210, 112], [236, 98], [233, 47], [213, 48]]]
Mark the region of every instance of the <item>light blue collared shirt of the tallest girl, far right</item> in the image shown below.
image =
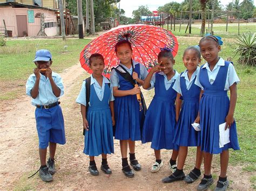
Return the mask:
[[[216, 65], [214, 66], [212, 71], [211, 71], [211, 69], [210, 69], [210, 67], [209, 67], [207, 62], [204, 64], [203, 68], [207, 69], [208, 80], [209, 80], [209, 82], [211, 84], [213, 84], [213, 82], [215, 81], [216, 76], [217, 76], [221, 66], [225, 66], [225, 60], [223, 58], [219, 59], [219, 61], [216, 63]], [[199, 82], [199, 75], [200, 75], [200, 72], [198, 73], [197, 79], [196, 79], [196, 81], [194, 83], [197, 86], [199, 86], [202, 90], [204, 90], [203, 86]], [[228, 69], [227, 69], [227, 78], [226, 78], [224, 90], [229, 90], [230, 87], [234, 83], [239, 83], [239, 82], [240, 82], [240, 80], [238, 78], [237, 73], [235, 72], [234, 66], [232, 65], [232, 63], [230, 63], [228, 65]]]

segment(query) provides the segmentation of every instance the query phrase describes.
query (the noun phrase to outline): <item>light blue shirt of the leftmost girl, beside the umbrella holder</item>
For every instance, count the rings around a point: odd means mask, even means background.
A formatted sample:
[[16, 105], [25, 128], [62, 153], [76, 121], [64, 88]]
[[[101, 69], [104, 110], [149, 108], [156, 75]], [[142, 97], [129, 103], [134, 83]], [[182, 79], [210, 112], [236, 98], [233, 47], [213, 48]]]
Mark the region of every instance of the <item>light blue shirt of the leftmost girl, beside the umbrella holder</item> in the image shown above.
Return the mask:
[[[83, 81], [82, 84], [82, 88], [80, 90], [79, 95], [77, 96], [76, 102], [82, 105], [86, 106], [86, 88], [85, 88], [85, 80]], [[96, 79], [93, 78], [93, 76], [91, 75], [91, 85], [93, 84], [93, 87], [96, 91], [96, 94], [99, 98], [100, 101], [103, 100], [103, 96], [104, 96], [104, 90], [105, 90], [105, 83], [110, 83], [110, 81], [103, 76], [103, 82], [102, 82], [102, 87], [100, 87], [99, 83], [97, 82]], [[110, 83], [110, 97], [109, 97], [109, 102], [110, 101], [114, 101], [114, 96], [113, 96], [113, 87], [112, 84]], [[90, 105], [90, 102], [89, 102]]]

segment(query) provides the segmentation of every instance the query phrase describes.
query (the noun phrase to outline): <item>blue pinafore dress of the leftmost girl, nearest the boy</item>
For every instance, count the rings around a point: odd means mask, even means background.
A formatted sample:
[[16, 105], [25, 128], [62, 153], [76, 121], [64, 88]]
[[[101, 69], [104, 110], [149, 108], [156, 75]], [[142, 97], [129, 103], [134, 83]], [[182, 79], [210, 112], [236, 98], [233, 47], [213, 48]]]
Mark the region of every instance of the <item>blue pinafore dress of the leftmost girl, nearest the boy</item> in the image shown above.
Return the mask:
[[109, 108], [110, 87], [103, 84], [104, 96], [100, 101], [93, 84], [90, 90], [90, 106], [86, 119], [89, 123], [89, 131], [85, 131], [84, 153], [90, 156], [114, 153], [113, 128], [111, 111]]

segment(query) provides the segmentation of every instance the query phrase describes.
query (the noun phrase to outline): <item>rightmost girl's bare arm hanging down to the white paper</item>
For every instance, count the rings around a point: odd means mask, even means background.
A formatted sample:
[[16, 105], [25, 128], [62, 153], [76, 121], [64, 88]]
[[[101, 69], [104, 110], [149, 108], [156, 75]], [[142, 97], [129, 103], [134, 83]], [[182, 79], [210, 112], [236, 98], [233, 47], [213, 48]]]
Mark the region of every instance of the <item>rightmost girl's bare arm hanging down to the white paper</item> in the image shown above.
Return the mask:
[[235, 104], [237, 103], [237, 83], [233, 83], [230, 87], [230, 109], [228, 110], [228, 114], [226, 116], [226, 129], [230, 128], [232, 123], [234, 122], [234, 110]]

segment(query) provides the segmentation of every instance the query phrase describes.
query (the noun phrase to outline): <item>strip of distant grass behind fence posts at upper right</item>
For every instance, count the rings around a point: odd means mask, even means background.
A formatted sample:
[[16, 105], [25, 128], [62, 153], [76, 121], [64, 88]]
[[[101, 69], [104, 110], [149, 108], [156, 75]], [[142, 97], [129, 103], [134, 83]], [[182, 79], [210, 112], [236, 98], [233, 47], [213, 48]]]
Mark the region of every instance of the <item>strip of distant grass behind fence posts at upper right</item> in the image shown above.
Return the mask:
[[[179, 32], [179, 24], [176, 24], [175, 31], [174, 26], [172, 25], [172, 33], [175, 36], [191, 36], [191, 37], [199, 37], [201, 24], [192, 24], [191, 26], [191, 34], [188, 34], [186, 31], [187, 24], [181, 24], [180, 32]], [[211, 23], [210, 23], [211, 27]], [[167, 24], [164, 25], [164, 28], [167, 29]], [[205, 32], [208, 29], [208, 23], [205, 25]], [[169, 30], [171, 30], [171, 25], [169, 24]], [[208, 30], [209, 31], [209, 30]], [[256, 31], [256, 23], [240, 23], [240, 34], [243, 32]], [[228, 29], [226, 32], [226, 24], [225, 23], [213, 23], [213, 32], [215, 35], [224, 37], [224, 38], [235, 38], [238, 35], [238, 23], [228, 23]]]

